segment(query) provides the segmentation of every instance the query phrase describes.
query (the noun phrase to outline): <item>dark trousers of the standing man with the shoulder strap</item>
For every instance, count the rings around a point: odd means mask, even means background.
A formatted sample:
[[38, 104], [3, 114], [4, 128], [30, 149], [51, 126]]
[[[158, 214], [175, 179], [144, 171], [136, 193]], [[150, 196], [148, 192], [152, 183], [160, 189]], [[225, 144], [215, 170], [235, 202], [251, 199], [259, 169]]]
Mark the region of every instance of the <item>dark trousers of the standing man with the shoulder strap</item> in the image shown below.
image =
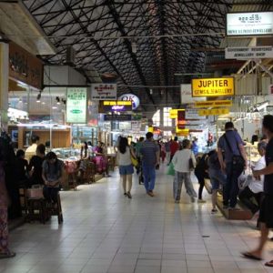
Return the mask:
[[223, 187], [224, 206], [236, 207], [239, 192], [238, 177], [243, 170], [243, 167], [236, 167], [232, 163], [227, 163], [227, 183]]

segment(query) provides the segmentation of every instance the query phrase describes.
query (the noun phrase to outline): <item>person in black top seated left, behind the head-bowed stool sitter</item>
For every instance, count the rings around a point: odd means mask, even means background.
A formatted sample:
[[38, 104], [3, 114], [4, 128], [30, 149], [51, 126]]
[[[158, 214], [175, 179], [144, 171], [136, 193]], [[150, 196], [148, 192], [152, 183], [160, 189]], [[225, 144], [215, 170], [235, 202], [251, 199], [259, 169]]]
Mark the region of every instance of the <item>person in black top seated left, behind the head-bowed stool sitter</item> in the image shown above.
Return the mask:
[[36, 155], [31, 157], [27, 167], [28, 172], [28, 187], [33, 185], [44, 185], [42, 177], [43, 162], [45, 160], [45, 145], [39, 144], [36, 148]]

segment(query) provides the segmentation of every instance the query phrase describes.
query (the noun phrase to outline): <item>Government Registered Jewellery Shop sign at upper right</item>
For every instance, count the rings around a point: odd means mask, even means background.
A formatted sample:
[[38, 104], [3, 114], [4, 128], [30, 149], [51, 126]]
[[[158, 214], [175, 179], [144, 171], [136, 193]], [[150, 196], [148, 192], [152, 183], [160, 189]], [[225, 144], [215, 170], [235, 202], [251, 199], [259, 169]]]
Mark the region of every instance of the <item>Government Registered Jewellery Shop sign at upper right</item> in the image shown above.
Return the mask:
[[227, 47], [225, 56], [226, 59], [241, 60], [273, 58], [273, 46]]

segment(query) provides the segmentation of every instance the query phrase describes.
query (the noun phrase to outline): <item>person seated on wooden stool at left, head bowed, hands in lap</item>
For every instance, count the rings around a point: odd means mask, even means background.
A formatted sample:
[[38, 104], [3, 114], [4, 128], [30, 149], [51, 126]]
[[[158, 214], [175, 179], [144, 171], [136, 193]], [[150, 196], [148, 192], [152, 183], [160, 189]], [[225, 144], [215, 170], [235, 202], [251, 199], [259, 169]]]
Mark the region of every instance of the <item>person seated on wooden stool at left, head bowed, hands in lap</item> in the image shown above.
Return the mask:
[[44, 197], [51, 203], [57, 202], [58, 192], [62, 182], [64, 163], [59, 160], [56, 153], [49, 152], [43, 163], [43, 179], [45, 182]]

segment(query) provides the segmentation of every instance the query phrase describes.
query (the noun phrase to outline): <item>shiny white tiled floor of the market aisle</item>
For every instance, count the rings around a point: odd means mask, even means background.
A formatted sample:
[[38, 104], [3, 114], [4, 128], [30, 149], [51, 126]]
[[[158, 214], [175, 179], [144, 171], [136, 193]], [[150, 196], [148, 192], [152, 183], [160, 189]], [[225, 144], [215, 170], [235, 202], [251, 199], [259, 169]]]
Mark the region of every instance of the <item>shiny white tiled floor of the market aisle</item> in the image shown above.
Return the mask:
[[[240, 257], [255, 246], [254, 222], [227, 221], [184, 193], [172, 200], [172, 177], [157, 175], [157, 197], [136, 183], [123, 197], [117, 172], [94, 185], [62, 192], [65, 222], [26, 224], [11, 234], [17, 256], [0, 261], [9, 273], [237, 273], [273, 272]], [[197, 185], [196, 185], [197, 187]], [[205, 194], [209, 200], [209, 196]], [[268, 242], [265, 258], [273, 258]]]

